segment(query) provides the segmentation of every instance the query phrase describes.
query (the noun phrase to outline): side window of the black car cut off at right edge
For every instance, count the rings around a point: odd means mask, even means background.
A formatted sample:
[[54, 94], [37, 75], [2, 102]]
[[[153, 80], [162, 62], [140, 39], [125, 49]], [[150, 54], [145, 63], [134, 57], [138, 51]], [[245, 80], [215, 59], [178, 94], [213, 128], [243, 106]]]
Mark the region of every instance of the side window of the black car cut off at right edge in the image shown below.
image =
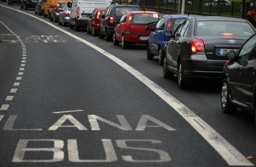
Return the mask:
[[256, 36], [253, 36], [249, 41], [247, 41], [239, 53], [238, 60], [248, 60], [250, 53], [253, 51], [254, 45], [256, 43]]

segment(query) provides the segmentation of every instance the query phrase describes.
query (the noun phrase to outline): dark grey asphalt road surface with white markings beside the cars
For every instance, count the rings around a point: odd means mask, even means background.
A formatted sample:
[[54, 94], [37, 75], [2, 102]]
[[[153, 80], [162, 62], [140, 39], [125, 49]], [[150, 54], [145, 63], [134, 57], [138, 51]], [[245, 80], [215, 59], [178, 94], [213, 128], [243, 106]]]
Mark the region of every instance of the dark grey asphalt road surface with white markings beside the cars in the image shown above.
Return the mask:
[[[15, 9], [15, 10], [13, 10]], [[129, 49], [0, 3], [1, 167], [254, 166], [254, 115]]]

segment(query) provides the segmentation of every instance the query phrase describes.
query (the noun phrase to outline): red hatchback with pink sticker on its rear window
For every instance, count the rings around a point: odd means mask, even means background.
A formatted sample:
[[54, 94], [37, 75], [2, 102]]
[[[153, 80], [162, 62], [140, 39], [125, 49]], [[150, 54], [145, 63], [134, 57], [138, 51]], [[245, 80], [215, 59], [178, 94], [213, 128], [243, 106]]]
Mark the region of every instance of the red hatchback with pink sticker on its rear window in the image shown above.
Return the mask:
[[147, 44], [147, 38], [152, 31], [146, 30], [147, 26], [154, 29], [155, 23], [161, 18], [158, 12], [151, 11], [127, 11], [117, 22], [114, 29], [113, 43], [126, 49], [130, 44]]

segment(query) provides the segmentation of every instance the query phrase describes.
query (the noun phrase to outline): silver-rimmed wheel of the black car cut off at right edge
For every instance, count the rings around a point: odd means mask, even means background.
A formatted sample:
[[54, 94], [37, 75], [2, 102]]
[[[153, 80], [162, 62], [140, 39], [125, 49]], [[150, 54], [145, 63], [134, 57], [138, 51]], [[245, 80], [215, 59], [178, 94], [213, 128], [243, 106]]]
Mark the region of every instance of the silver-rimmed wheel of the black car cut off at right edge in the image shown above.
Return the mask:
[[230, 103], [229, 99], [229, 86], [227, 83], [227, 79], [223, 79], [222, 85], [221, 85], [221, 107], [223, 113], [226, 114], [232, 114], [235, 113], [237, 110], [237, 107]]

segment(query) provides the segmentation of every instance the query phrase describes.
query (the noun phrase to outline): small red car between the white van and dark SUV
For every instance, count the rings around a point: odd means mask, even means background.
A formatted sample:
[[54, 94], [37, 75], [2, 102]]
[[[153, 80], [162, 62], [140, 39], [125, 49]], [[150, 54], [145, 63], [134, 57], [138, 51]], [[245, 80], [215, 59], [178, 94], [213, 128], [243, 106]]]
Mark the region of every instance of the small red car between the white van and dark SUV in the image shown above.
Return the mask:
[[106, 8], [95, 8], [93, 14], [91, 14], [91, 18], [87, 22], [87, 34], [93, 33], [93, 36], [97, 36], [99, 33], [99, 23], [101, 22], [101, 18], [99, 16], [104, 15]]

